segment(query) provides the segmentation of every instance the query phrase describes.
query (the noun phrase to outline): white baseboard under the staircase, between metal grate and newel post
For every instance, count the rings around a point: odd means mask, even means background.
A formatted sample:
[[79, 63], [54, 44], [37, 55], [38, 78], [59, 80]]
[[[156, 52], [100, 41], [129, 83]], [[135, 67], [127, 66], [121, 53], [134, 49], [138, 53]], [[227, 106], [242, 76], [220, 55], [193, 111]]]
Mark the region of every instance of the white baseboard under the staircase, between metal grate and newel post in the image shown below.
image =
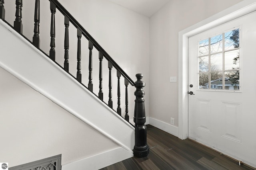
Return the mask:
[[108, 150], [84, 159], [80, 159], [68, 164], [62, 165], [62, 170], [98, 170], [106, 166], [115, 164], [122, 160], [131, 158], [133, 153], [122, 147]]

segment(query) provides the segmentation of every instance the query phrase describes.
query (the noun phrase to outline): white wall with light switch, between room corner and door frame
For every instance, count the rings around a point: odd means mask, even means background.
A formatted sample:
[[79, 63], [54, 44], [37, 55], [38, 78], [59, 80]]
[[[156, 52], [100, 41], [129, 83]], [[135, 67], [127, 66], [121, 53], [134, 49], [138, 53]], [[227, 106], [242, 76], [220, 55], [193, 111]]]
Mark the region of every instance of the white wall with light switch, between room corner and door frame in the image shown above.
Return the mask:
[[171, 0], [150, 18], [150, 117], [178, 126], [178, 32], [240, 1]]

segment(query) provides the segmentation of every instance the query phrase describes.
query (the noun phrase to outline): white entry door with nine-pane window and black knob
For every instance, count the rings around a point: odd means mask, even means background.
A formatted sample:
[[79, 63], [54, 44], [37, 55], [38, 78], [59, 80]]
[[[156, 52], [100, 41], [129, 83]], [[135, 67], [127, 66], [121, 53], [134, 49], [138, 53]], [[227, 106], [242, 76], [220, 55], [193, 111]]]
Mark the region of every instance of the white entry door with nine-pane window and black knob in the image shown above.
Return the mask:
[[189, 138], [256, 167], [256, 12], [188, 42]]

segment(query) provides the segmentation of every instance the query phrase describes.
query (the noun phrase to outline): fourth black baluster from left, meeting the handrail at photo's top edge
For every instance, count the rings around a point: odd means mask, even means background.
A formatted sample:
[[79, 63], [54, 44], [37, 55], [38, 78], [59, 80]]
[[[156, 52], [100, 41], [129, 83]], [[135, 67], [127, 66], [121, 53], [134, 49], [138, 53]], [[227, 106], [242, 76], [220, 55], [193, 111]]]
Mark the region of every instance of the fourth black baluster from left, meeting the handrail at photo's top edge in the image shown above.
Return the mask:
[[50, 1], [50, 10], [51, 10], [51, 43], [50, 43], [50, 59], [55, 61], [55, 13], [56, 13], [56, 5]]

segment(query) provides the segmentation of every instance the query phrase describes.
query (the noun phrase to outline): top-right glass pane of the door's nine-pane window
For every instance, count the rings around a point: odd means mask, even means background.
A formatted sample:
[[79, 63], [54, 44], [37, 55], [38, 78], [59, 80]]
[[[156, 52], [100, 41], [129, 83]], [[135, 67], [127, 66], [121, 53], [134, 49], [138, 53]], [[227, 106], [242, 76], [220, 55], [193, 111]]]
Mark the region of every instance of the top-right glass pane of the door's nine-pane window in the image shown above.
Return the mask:
[[225, 36], [225, 50], [239, 47], [239, 28], [226, 32], [224, 36]]

